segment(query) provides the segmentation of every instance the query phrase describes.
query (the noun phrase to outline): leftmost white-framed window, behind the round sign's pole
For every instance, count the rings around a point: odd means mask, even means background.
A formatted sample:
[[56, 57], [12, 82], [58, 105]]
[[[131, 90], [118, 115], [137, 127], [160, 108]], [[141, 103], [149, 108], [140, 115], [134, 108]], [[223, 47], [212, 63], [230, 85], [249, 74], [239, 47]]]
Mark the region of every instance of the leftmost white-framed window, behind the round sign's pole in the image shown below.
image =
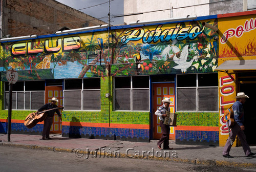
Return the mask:
[[[45, 81], [18, 81], [12, 85], [13, 110], [37, 110], [45, 104]], [[5, 109], [9, 106], [9, 82], [5, 82]]]

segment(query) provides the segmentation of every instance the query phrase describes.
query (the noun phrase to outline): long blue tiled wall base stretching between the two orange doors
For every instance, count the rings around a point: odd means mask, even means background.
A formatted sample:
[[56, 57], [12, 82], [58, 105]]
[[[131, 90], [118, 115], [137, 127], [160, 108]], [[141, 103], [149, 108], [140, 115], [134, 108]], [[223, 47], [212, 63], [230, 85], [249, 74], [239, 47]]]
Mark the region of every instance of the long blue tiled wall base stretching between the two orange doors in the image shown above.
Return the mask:
[[149, 136], [150, 130], [145, 129], [62, 125], [62, 137], [149, 142]]

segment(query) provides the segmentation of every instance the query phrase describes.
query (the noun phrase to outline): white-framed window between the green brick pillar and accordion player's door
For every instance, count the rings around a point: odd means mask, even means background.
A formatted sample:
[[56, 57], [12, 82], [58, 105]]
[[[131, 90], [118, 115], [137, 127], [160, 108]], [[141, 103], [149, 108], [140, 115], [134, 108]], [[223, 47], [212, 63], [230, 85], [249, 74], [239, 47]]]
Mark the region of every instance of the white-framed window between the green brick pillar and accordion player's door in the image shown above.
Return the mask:
[[149, 111], [150, 80], [148, 76], [114, 78], [116, 111]]

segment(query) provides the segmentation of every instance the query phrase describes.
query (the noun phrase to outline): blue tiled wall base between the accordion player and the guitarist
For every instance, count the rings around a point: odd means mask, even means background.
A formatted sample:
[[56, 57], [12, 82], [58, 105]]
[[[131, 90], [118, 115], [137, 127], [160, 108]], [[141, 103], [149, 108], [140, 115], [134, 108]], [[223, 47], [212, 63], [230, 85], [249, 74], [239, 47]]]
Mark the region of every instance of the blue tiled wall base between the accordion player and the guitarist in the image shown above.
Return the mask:
[[219, 132], [176, 130], [176, 144], [219, 146]]

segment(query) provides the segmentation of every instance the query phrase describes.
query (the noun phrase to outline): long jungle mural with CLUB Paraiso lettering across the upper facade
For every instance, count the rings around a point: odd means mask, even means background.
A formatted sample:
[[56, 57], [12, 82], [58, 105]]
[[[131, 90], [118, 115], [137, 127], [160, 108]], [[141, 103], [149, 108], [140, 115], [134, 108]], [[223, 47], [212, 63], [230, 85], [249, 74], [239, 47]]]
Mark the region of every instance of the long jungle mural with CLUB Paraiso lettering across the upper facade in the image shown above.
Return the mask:
[[213, 72], [218, 35], [201, 22], [7, 42], [0, 68], [18, 70], [22, 80]]

